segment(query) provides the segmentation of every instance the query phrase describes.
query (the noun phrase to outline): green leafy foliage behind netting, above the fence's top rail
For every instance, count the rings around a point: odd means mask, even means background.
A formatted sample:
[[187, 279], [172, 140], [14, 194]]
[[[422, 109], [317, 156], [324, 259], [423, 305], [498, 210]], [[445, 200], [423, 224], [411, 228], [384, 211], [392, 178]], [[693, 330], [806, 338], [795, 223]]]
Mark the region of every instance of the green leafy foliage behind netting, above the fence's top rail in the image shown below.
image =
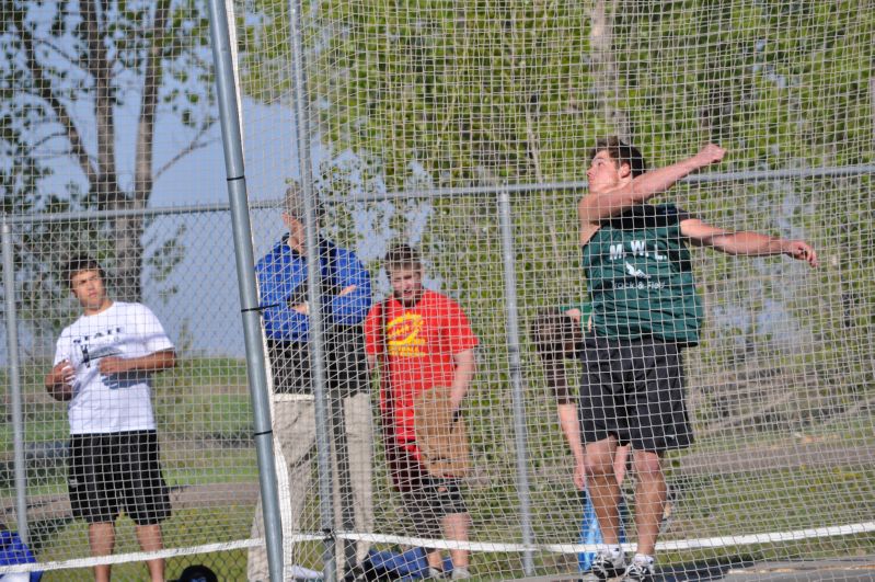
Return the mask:
[[[256, 3], [244, 82], [288, 91], [287, 7]], [[793, 9], [786, 9], [792, 5]], [[868, 79], [875, 18], [829, 7], [619, 2], [608, 14], [613, 105], [656, 163], [727, 146], [724, 169], [873, 159]], [[775, 7], [783, 7], [778, 9]], [[592, 93], [590, 12], [579, 3], [329, 1], [308, 7], [312, 103], [325, 140], [378, 158], [391, 189], [425, 167], [438, 186], [580, 176], [610, 132]], [[851, 48], [853, 47], [853, 48]]]

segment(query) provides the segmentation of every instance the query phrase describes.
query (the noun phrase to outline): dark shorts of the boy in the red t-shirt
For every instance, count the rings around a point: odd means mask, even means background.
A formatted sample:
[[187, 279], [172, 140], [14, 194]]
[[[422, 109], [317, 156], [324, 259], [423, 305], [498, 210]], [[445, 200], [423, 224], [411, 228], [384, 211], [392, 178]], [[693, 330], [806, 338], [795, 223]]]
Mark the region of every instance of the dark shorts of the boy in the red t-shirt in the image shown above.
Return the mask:
[[468, 513], [460, 481], [454, 478], [423, 477], [401, 497], [421, 537], [441, 537], [440, 520], [445, 515]]

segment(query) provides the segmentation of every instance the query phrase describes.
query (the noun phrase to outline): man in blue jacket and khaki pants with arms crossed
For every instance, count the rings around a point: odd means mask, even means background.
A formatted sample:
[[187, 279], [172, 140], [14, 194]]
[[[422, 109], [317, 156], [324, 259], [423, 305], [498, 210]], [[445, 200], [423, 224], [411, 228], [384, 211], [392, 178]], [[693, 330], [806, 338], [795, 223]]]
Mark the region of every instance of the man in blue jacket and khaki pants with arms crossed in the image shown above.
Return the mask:
[[[275, 443], [287, 471], [289, 502], [288, 522], [284, 533], [302, 532], [304, 503], [315, 493], [311, 461], [315, 455], [315, 413], [310, 369], [310, 304], [307, 296], [307, 248], [303, 220], [303, 199], [291, 187], [286, 193], [283, 221], [288, 228], [284, 236], [255, 266], [264, 315], [264, 331], [273, 373], [273, 427]], [[342, 402], [343, 419], [335, 419], [345, 431], [346, 447], [335, 442], [334, 475], [348, 473], [353, 499], [342, 483], [335, 482], [335, 527], [343, 527], [339, 509], [352, 506], [355, 529], [372, 530], [371, 502], [371, 409], [368, 396], [369, 375], [364, 352], [361, 323], [371, 306], [370, 275], [350, 250], [319, 239], [321, 266], [321, 311], [324, 330], [326, 390], [332, 408]], [[338, 435], [335, 433], [333, 438]], [[347, 450], [344, 454], [344, 449]], [[341, 455], [336, 455], [341, 453]], [[348, 471], [338, 470], [348, 463]], [[336, 480], [335, 480], [336, 481]], [[280, 480], [280, 483], [283, 481]], [[253, 537], [263, 532], [261, 501], [255, 512]], [[309, 528], [315, 529], [315, 528]], [[288, 544], [286, 545], [288, 547]], [[361, 563], [368, 546], [360, 541], [356, 559]], [[293, 561], [287, 556], [285, 561]], [[355, 573], [347, 571], [347, 579]], [[264, 547], [252, 548], [247, 566], [249, 580], [268, 580], [267, 556]]]

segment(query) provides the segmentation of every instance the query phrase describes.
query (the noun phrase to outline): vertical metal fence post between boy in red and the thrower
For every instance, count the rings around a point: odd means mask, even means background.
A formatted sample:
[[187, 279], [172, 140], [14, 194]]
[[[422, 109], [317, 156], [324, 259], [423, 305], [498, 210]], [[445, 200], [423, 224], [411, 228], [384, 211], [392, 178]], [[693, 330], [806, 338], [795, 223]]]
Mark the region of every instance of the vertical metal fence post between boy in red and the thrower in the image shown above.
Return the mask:
[[[528, 433], [526, 427], [526, 400], [522, 392], [522, 365], [519, 342], [519, 309], [517, 308], [517, 270], [514, 252], [514, 224], [510, 214], [510, 194], [498, 194], [498, 220], [502, 231], [502, 262], [505, 274], [505, 316], [507, 317], [507, 354], [510, 366], [510, 386], [514, 399], [514, 442], [517, 448], [517, 490], [519, 495], [522, 544], [531, 546], [533, 540], [531, 500], [529, 494]], [[526, 575], [534, 572], [532, 550], [522, 554]]]

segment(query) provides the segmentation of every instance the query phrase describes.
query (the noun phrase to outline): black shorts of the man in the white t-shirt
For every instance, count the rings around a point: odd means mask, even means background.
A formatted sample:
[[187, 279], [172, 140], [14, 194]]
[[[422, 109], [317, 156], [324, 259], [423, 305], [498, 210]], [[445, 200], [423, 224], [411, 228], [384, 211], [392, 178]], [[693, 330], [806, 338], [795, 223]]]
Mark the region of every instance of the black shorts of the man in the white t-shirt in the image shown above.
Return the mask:
[[122, 511], [137, 525], [170, 517], [154, 431], [71, 435], [67, 487], [73, 516], [89, 524], [113, 522]]

